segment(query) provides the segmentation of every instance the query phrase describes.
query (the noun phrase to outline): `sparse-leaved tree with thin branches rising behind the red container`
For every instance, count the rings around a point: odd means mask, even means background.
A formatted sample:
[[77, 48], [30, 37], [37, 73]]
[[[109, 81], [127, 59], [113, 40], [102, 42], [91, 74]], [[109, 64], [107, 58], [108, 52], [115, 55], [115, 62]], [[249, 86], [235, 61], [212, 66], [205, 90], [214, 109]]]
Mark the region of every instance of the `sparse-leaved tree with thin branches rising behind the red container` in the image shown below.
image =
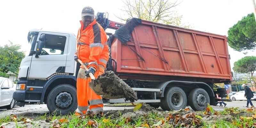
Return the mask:
[[[158, 23], [170, 24], [174, 26], [190, 28], [189, 25], [181, 24], [182, 16], [179, 16], [174, 7], [179, 5], [178, 1], [170, 0], [124, 0], [125, 6], [121, 11], [125, 12], [124, 16], [131, 18], [140, 18]], [[116, 16], [121, 20], [127, 20], [122, 16]]]

